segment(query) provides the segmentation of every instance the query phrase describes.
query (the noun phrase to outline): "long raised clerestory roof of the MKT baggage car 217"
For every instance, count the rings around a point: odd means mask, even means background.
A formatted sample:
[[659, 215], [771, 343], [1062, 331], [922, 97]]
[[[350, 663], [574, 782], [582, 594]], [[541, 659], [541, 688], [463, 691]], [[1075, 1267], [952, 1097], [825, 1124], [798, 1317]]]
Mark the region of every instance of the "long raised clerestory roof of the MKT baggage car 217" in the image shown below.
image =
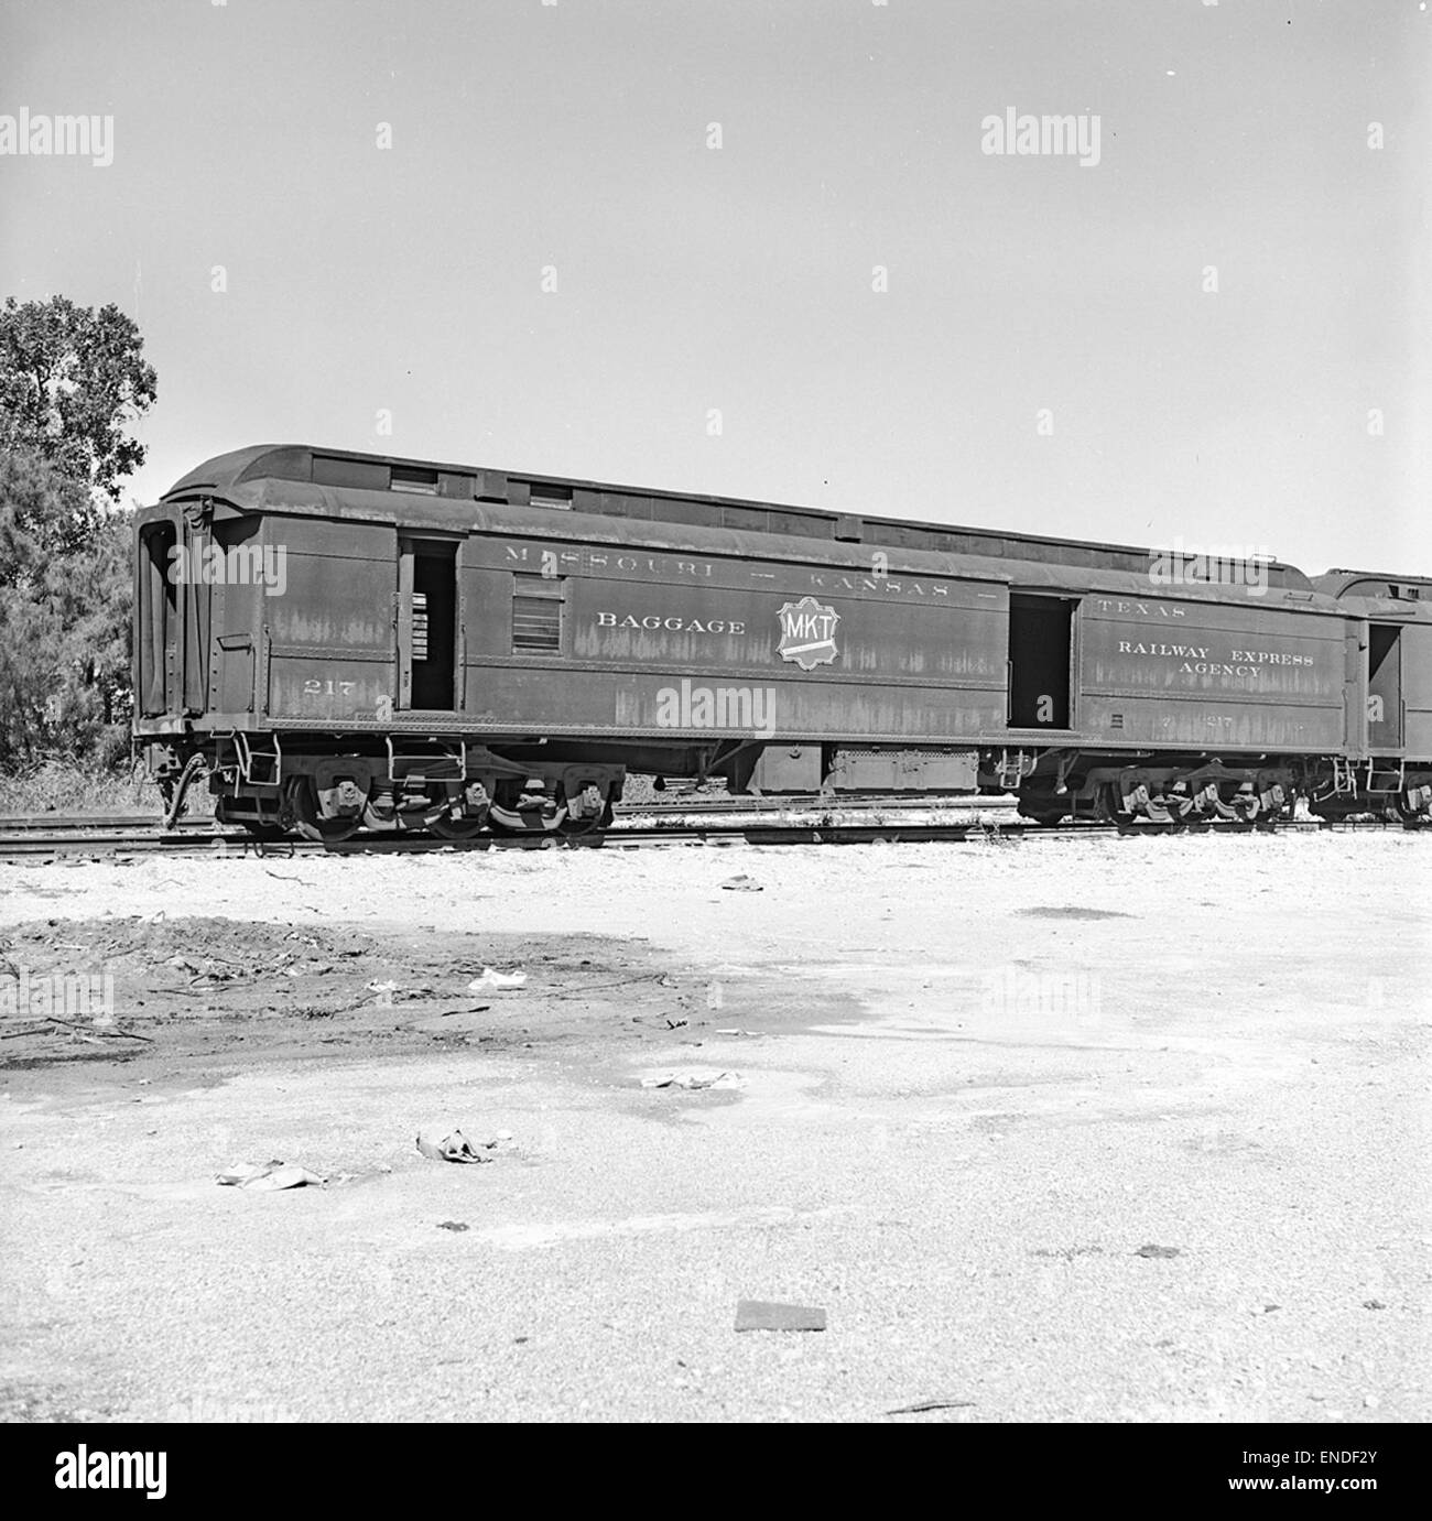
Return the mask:
[[[476, 502], [571, 510], [685, 528], [785, 534], [804, 540], [826, 540], [831, 545], [933, 551], [985, 560], [1126, 572], [1144, 580], [1154, 554], [1132, 545], [1087, 543], [1077, 538], [910, 522], [863, 513], [831, 513], [822, 508], [740, 497], [610, 485], [571, 476], [539, 476], [391, 455], [326, 450], [310, 444], [254, 444], [216, 455], [177, 481], [161, 500], [186, 502], [210, 496], [240, 510], [262, 511], [265, 506], [275, 510], [277, 500], [263, 500], [263, 493], [254, 490], [265, 481], [326, 488], [324, 511], [335, 517], [350, 514], [371, 517], [374, 502], [370, 494], [390, 493], [390, 500], [397, 497], [390, 508], [394, 520], [408, 520], [409, 511], [418, 514], [412, 520], [422, 520], [422, 510], [426, 505], [423, 499], [435, 497], [453, 505]], [[1312, 583], [1295, 566], [1271, 560], [1266, 561], [1265, 570], [1271, 587], [1292, 592], [1313, 590]]]

